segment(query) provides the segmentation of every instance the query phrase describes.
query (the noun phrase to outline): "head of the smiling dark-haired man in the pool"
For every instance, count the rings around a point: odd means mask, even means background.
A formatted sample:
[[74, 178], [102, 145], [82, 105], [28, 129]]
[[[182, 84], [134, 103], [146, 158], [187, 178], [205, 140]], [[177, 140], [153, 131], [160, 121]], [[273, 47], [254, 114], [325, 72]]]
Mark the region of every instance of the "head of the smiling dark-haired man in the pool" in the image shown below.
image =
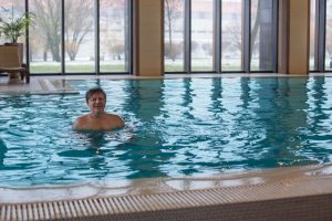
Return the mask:
[[106, 105], [106, 94], [102, 88], [91, 88], [85, 94], [86, 104], [93, 115], [104, 113]]

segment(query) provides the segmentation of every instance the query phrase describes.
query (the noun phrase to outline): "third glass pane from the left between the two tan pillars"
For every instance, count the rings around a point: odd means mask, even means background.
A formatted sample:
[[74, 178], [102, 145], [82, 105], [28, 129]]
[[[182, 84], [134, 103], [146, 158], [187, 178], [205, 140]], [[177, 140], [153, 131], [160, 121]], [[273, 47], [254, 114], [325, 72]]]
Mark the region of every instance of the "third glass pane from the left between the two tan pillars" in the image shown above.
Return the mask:
[[221, 71], [242, 71], [243, 0], [222, 0]]

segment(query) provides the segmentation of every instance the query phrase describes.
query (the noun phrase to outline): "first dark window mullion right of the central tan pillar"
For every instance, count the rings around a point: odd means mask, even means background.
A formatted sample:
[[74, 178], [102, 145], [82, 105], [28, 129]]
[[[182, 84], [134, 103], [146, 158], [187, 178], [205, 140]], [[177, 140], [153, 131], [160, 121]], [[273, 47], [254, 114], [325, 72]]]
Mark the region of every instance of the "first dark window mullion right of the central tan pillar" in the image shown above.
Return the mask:
[[185, 72], [191, 72], [191, 0], [185, 0]]

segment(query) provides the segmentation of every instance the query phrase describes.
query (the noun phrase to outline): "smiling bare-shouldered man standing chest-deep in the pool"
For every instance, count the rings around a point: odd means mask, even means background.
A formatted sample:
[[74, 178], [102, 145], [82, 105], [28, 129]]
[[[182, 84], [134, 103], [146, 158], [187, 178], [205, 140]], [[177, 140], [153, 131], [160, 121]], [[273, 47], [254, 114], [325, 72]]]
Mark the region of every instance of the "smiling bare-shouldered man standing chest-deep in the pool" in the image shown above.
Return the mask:
[[75, 130], [112, 130], [124, 127], [123, 119], [114, 114], [104, 112], [106, 94], [102, 88], [91, 88], [85, 94], [90, 114], [80, 116], [73, 125]]

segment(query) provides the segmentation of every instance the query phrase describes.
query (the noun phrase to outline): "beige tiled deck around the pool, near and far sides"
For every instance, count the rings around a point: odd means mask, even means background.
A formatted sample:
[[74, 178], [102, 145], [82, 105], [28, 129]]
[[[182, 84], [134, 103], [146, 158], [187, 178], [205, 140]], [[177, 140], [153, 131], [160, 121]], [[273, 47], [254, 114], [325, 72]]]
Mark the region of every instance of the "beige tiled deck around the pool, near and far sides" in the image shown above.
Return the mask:
[[[317, 75], [317, 74], [315, 74]], [[329, 74], [324, 74], [329, 76]], [[238, 77], [241, 74], [194, 77]], [[252, 77], [280, 74], [250, 74]], [[331, 75], [332, 76], [332, 75]], [[193, 77], [166, 75], [165, 77]], [[66, 80], [134, 76], [0, 77], [8, 93], [76, 93]], [[332, 127], [332, 126], [331, 126]], [[332, 220], [332, 165], [199, 178], [136, 179], [66, 187], [0, 188], [0, 220]]]

